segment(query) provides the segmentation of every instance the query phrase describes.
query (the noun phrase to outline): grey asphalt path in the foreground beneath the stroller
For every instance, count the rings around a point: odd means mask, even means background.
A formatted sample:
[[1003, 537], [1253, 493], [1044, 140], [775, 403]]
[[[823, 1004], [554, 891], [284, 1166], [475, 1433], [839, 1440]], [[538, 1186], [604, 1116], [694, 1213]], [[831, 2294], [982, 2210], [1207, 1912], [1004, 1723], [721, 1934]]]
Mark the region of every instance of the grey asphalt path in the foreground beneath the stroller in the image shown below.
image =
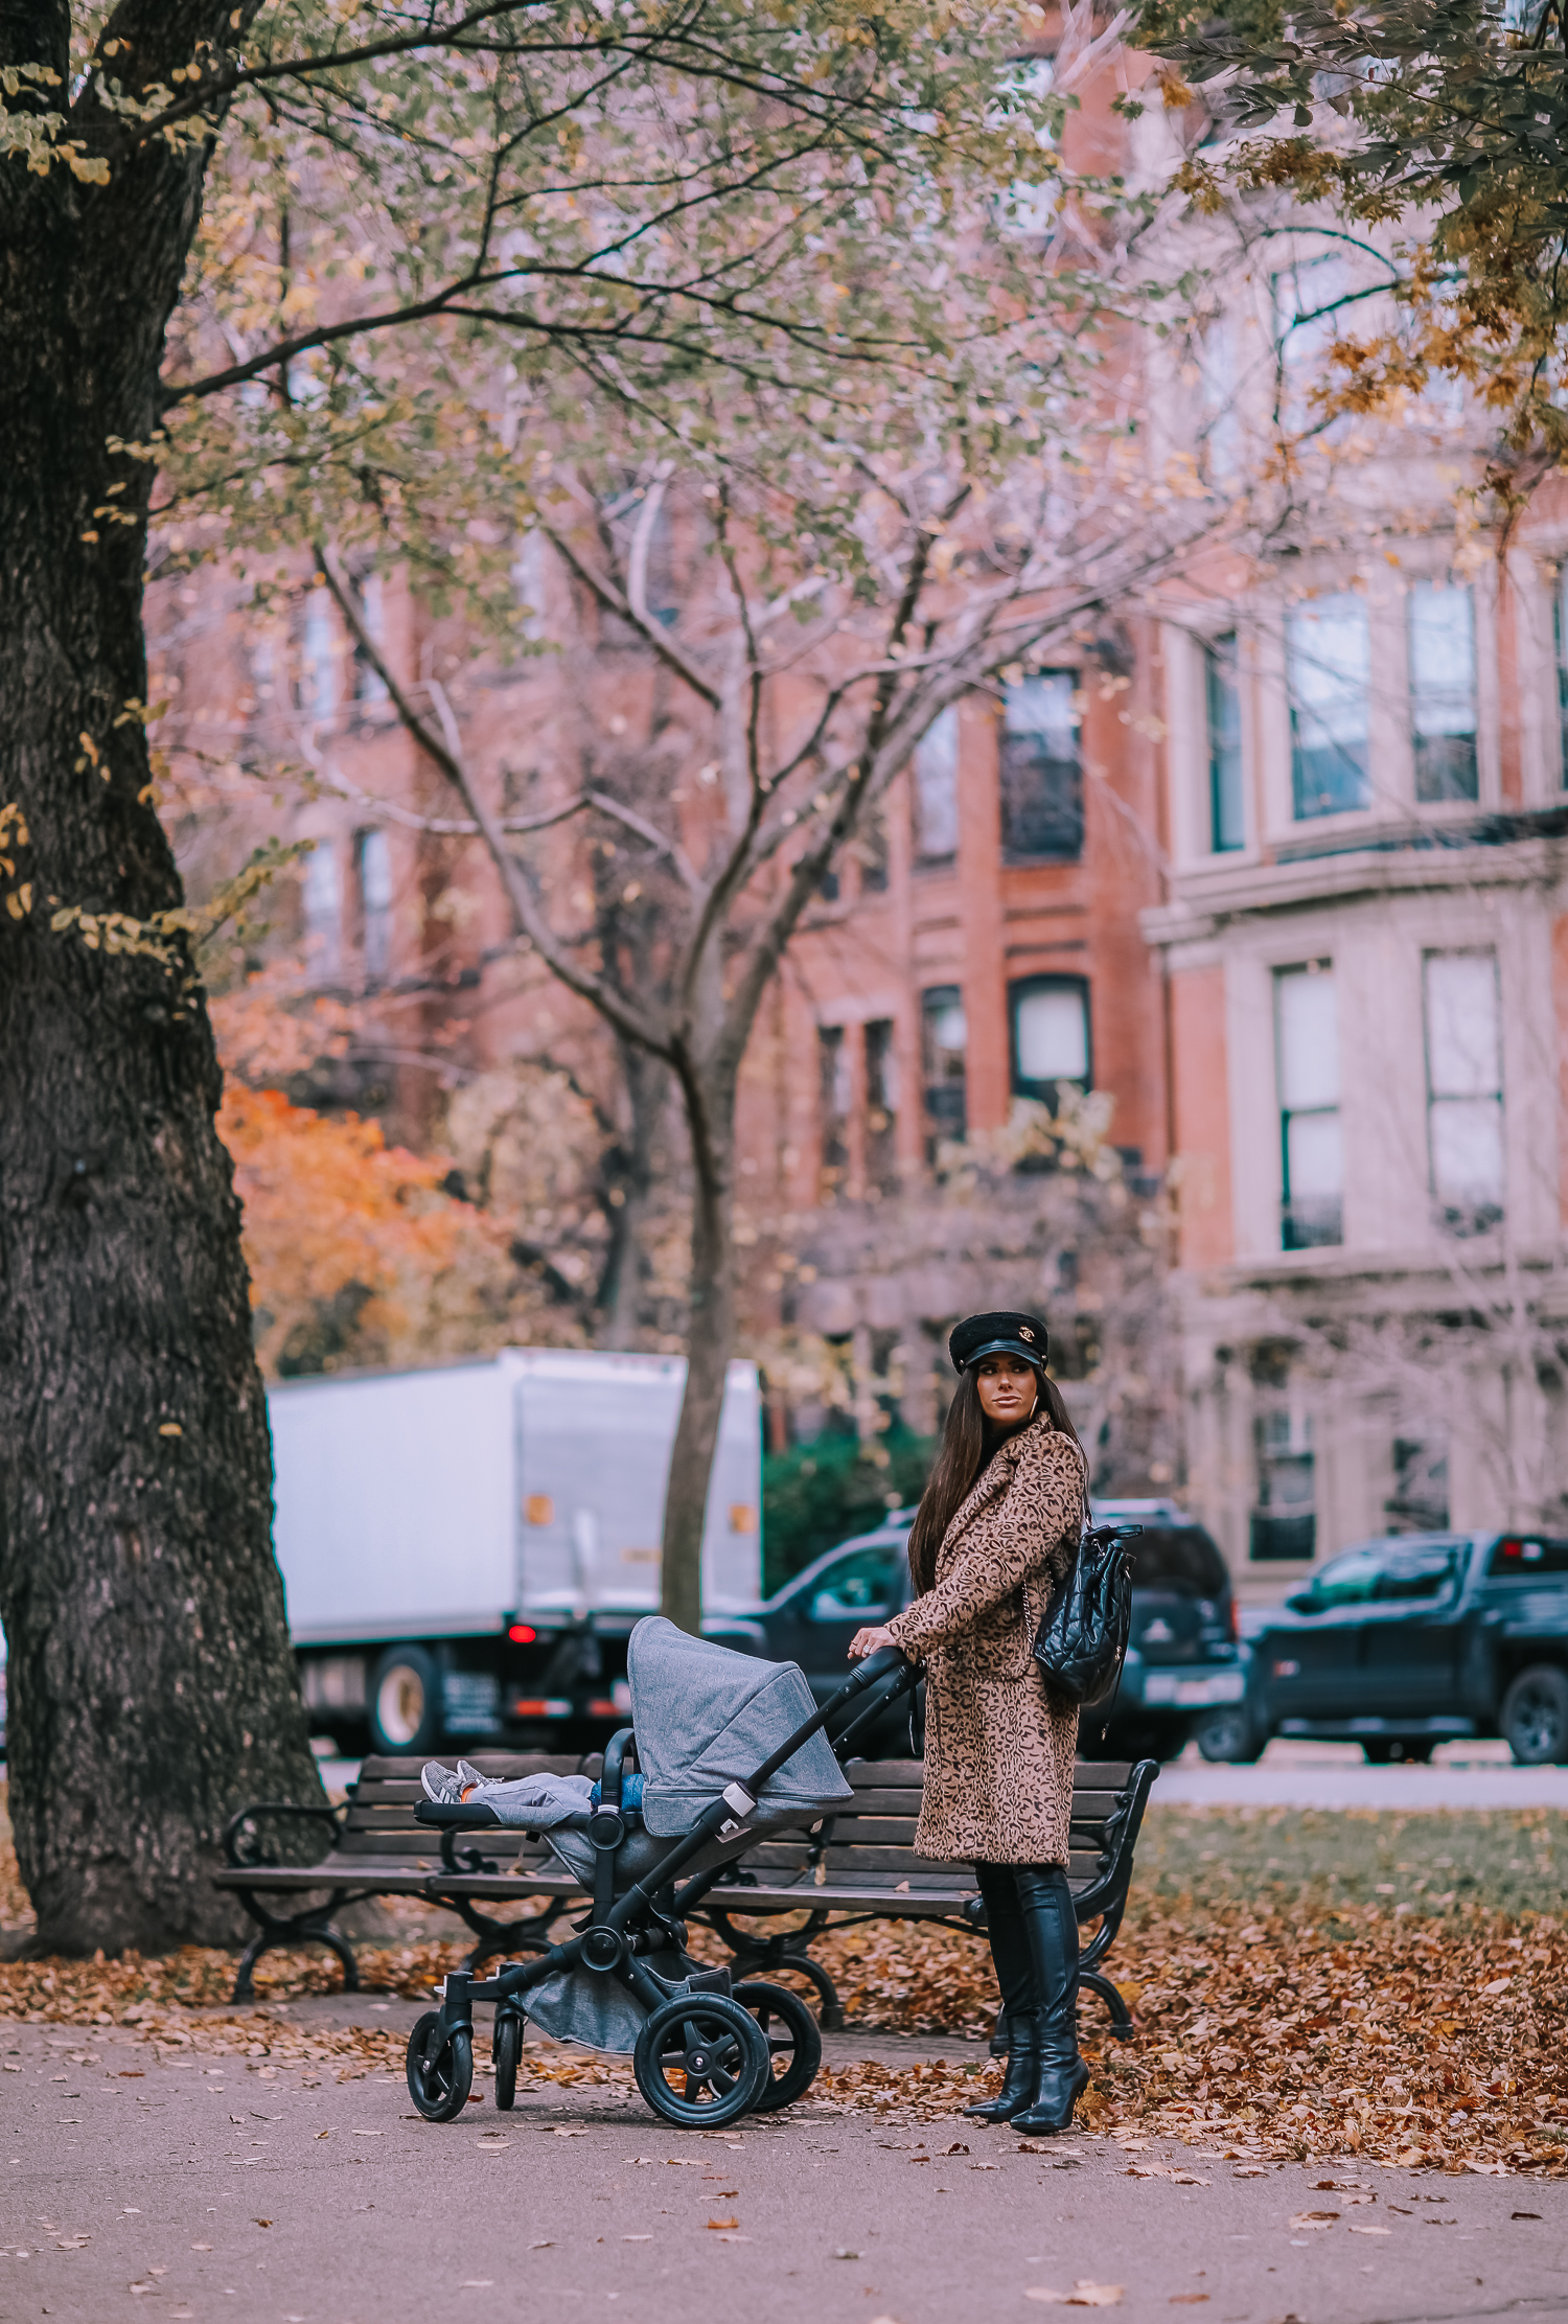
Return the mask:
[[[887, 2047], [829, 2040], [839, 2061]], [[897, 2054], [920, 2047], [941, 2045]], [[1094, 2305], [1129, 2324], [1568, 2315], [1561, 2182], [1094, 2138], [1027, 2154], [1010, 2131], [813, 2103], [683, 2133], [636, 2096], [558, 2087], [437, 2126], [393, 2075], [262, 2082], [109, 2029], [5, 2027], [0, 2064], [7, 2324], [990, 2324], [1083, 2284], [1120, 2287]]]

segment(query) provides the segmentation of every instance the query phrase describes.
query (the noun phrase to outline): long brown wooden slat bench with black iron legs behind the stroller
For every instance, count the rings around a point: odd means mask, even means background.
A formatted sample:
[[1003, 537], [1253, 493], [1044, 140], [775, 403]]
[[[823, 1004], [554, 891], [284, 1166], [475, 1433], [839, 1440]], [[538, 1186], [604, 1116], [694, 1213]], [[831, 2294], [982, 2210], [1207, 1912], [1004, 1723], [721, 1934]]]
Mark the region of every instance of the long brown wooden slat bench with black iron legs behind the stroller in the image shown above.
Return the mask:
[[[597, 1776], [599, 1755], [571, 1759], [476, 1752], [474, 1766], [483, 1776]], [[458, 1913], [479, 1938], [472, 1968], [495, 1954], [548, 1948], [551, 1922], [585, 1903], [581, 1882], [532, 1834], [437, 1831], [420, 1824], [418, 1771], [418, 1759], [367, 1759], [339, 1808], [262, 1803], [230, 1820], [223, 1836], [228, 1868], [216, 1878], [258, 1924], [258, 1936], [239, 1961], [235, 2001], [253, 1999], [256, 1961], [279, 1945], [328, 1945], [344, 1964], [346, 1989], [358, 1989], [353, 1945], [337, 1929], [335, 1915], [365, 1896], [418, 1896]], [[1152, 1759], [1083, 1759], [1073, 1771], [1069, 1882], [1078, 1920], [1099, 1920], [1083, 1950], [1083, 1982], [1106, 2003], [1110, 2029], [1120, 2036], [1131, 2031], [1127, 2003], [1099, 1964], [1122, 1924], [1138, 1827], [1157, 1773]], [[973, 1864], [936, 1864], [915, 1855], [922, 1762], [853, 1759], [846, 1776], [855, 1789], [850, 1808], [811, 1831], [760, 1841], [739, 1864], [725, 1866], [692, 1906], [692, 1917], [704, 1920], [729, 1948], [739, 1975], [792, 1968], [808, 1978], [829, 2031], [843, 2027], [843, 2008], [832, 1975], [811, 1954], [827, 1929], [871, 1920], [929, 1920], [969, 1936], [985, 1931]], [[316, 1829], [328, 1827], [325, 1855], [309, 1864], [269, 1857], [269, 1829], [286, 1829], [290, 1820], [295, 1829], [309, 1829], [311, 1822]], [[276, 1913], [265, 1899], [283, 1899], [295, 1910]], [[497, 1920], [492, 1908], [509, 1903], [530, 1903], [534, 1910]], [[769, 1931], [767, 1922], [781, 1917], [794, 1924]], [[755, 1922], [764, 1927], [757, 1929]]]

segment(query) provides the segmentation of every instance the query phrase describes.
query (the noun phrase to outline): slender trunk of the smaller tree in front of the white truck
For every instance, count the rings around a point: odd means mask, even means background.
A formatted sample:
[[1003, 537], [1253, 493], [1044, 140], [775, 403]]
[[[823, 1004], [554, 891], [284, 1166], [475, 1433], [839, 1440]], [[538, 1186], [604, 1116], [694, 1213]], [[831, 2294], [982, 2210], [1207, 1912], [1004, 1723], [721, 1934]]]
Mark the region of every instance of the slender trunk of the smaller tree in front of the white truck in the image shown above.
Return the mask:
[[734, 1353], [734, 1088], [681, 1074], [692, 1136], [692, 1320], [685, 1394], [664, 1499], [664, 1569], [660, 1613], [702, 1634], [702, 1527], [725, 1376]]

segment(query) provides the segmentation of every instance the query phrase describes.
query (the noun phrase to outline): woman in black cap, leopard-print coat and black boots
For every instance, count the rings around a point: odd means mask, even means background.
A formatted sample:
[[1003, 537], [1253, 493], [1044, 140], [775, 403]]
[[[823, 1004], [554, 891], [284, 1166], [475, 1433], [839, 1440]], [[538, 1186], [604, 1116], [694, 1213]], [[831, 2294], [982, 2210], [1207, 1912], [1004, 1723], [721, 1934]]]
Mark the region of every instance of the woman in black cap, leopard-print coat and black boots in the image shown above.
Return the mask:
[[1008, 2022], [1001, 2094], [969, 2113], [1064, 2131], [1078, 2057], [1078, 1915], [1066, 1885], [1078, 1708], [1050, 1697], [1034, 1636], [1083, 1532], [1087, 1462], [1045, 1378], [1038, 1315], [971, 1315], [948, 1341], [959, 1390], [908, 1564], [913, 1606], [857, 1631], [927, 1666], [922, 1857], [976, 1866]]

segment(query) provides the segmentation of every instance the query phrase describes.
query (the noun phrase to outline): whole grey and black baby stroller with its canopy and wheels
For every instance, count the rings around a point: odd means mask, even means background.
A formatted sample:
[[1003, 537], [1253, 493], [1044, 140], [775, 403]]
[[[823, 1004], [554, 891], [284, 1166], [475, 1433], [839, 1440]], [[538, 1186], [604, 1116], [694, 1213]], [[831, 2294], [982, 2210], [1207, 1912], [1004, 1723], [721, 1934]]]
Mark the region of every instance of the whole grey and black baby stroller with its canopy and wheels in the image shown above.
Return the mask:
[[[757, 1838], [853, 1799], [841, 1762], [918, 1671], [883, 1648], [818, 1708], [792, 1662], [757, 1662], [650, 1615], [632, 1631], [627, 1676], [636, 1727], [611, 1736], [597, 1803], [544, 1834], [592, 1899], [588, 1917], [534, 1959], [446, 1978], [441, 2008], [409, 2036], [409, 2094], [430, 2122], [455, 2122], [467, 2106], [476, 2001], [495, 2003], [502, 2110], [516, 2101], [527, 2017], [630, 2050], [648, 2106], [683, 2126], [790, 2106], [822, 2061], [799, 1994], [757, 1978], [732, 1987], [727, 1968], [704, 1968], [685, 1950], [685, 1917]], [[416, 1813], [441, 1829], [502, 1822], [483, 1799], [420, 1801]]]

